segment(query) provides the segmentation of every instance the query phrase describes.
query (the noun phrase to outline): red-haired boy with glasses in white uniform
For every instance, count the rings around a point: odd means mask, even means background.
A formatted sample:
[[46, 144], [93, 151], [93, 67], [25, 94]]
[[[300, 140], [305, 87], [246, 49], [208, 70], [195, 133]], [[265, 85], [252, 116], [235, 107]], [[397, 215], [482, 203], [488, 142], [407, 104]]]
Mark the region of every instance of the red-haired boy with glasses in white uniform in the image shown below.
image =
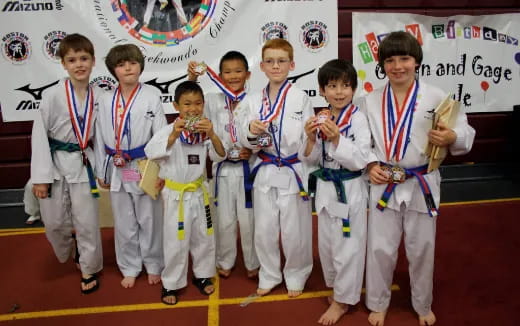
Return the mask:
[[[313, 115], [307, 95], [292, 86], [293, 48], [284, 39], [267, 41], [260, 69], [269, 84], [260, 94], [248, 96], [251, 113], [245, 119], [244, 146], [258, 148], [252, 174], [255, 246], [260, 260], [258, 295], [268, 294], [282, 282], [280, 245], [285, 254], [283, 277], [289, 297], [299, 296], [312, 270], [311, 207], [304, 189], [307, 167], [298, 159], [304, 125]], [[246, 129], [248, 128], [248, 129]]]

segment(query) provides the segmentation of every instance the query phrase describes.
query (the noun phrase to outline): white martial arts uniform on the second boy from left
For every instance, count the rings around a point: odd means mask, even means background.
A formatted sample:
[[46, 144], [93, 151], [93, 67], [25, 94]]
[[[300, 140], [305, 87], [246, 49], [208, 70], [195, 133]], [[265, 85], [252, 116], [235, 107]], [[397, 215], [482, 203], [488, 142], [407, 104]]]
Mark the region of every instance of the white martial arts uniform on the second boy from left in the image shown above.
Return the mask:
[[[130, 108], [128, 132], [121, 140], [121, 150], [144, 146], [166, 125], [160, 94], [151, 86], [141, 86]], [[125, 277], [137, 277], [142, 265], [148, 274], [159, 275], [163, 268], [162, 203], [160, 199], [153, 200], [146, 195], [139, 188], [138, 181], [125, 178], [128, 172], [134, 175], [137, 173], [137, 159], [127, 161], [124, 167], [116, 167], [113, 157], [105, 153], [106, 146], [116, 148], [112, 121], [115, 91], [105, 93], [100, 101], [96, 126], [96, 160], [103, 167], [98, 169], [98, 178], [110, 183], [117, 265]]]

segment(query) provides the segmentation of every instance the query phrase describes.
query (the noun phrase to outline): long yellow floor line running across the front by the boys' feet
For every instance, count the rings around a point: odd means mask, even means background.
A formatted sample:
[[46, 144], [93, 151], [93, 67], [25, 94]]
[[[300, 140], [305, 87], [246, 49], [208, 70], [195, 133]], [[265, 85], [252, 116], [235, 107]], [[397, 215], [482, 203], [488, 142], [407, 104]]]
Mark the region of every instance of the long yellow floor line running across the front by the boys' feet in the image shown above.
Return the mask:
[[[216, 284], [218, 285], [218, 281]], [[217, 289], [217, 287], [216, 287]], [[392, 291], [399, 291], [399, 285], [394, 284], [391, 287]], [[362, 292], [364, 293], [364, 289]], [[215, 292], [217, 292], [215, 290]], [[215, 293], [214, 293], [215, 294]], [[46, 310], [46, 311], [33, 311], [33, 312], [20, 312], [20, 313], [10, 313], [10, 314], [0, 314], [0, 321], [10, 321], [10, 320], [20, 320], [20, 319], [34, 319], [34, 318], [46, 318], [46, 317], [64, 317], [64, 316], [75, 316], [75, 315], [89, 315], [89, 314], [101, 314], [101, 313], [111, 313], [111, 312], [130, 312], [130, 311], [143, 311], [143, 310], [163, 310], [163, 309], [179, 309], [179, 308], [195, 308], [195, 307], [205, 307], [208, 306], [211, 309], [211, 306], [214, 305], [218, 310], [218, 306], [220, 305], [238, 305], [243, 302], [246, 298], [228, 298], [228, 299], [219, 299], [218, 296], [212, 294], [208, 300], [193, 300], [193, 301], [179, 301], [178, 304], [174, 306], [168, 306], [163, 303], [143, 303], [143, 304], [132, 304], [132, 305], [119, 305], [119, 306], [103, 306], [103, 307], [86, 307], [86, 308], [75, 308], [75, 309], [61, 309], [61, 310]], [[319, 297], [327, 297], [332, 294], [332, 291], [315, 291], [315, 292], [304, 292], [302, 295], [296, 298], [289, 298], [287, 294], [272, 294], [267, 295], [265, 297], [260, 297], [255, 300], [254, 303], [260, 302], [275, 302], [275, 301], [290, 301], [290, 300], [303, 300], [303, 299], [313, 299]], [[218, 293], [217, 293], [218, 295]], [[214, 300], [214, 302], [212, 302]], [[209, 318], [214, 318], [215, 315], [211, 315], [210, 311], [208, 311], [208, 325]], [[216, 314], [216, 319], [213, 319], [218, 325], [219, 315], [218, 312]]]

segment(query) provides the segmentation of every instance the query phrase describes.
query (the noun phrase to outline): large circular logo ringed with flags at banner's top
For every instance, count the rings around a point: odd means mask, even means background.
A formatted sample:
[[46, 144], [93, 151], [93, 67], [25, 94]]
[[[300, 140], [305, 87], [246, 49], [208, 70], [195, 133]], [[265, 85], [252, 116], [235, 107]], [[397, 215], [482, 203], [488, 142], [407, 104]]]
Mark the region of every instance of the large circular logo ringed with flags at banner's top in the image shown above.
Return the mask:
[[117, 20], [142, 43], [175, 46], [197, 35], [215, 12], [217, 0], [110, 0]]

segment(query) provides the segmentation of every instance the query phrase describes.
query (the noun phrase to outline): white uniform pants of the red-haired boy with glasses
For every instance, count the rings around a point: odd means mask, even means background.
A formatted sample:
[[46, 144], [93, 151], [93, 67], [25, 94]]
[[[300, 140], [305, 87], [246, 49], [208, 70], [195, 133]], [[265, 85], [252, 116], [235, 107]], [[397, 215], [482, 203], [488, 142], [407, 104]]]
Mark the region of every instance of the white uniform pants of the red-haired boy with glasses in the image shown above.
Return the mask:
[[282, 282], [280, 244], [285, 255], [283, 277], [288, 290], [303, 290], [312, 271], [312, 217], [309, 201], [299, 194], [281, 195], [254, 189], [255, 246], [260, 261], [259, 288]]

